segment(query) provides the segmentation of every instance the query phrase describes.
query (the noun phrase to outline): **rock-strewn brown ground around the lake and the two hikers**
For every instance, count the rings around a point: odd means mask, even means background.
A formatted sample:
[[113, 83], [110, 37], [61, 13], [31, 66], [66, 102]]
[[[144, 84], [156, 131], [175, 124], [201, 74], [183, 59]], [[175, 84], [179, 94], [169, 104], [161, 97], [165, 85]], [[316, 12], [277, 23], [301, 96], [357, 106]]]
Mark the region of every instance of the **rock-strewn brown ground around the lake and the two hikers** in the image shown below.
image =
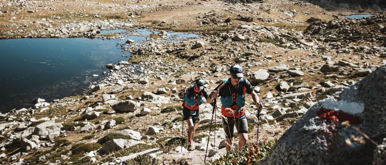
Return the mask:
[[[310, 3], [276, 0], [0, 4], [3, 39], [113, 39], [119, 36], [98, 30], [159, 30], [144, 42], [122, 45], [130, 60], [106, 64], [107, 77], [91, 83], [86, 94], [50, 103], [36, 99], [34, 107], [0, 114], [3, 164], [203, 164], [212, 107], [200, 106], [195, 150], [188, 152], [179, 92], [198, 77], [212, 91], [233, 64], [244, 68], [263, 103], [259, 139], [257, 111], [247, 96], [250, 140], [243, 150], [225, 153], [218, 109], [209, 163], [255, 163], [314, 104], [336, 98], [386, 64], [384, 14], [344, 19]], [[201, 37], [170, 42], [171, 30]]]

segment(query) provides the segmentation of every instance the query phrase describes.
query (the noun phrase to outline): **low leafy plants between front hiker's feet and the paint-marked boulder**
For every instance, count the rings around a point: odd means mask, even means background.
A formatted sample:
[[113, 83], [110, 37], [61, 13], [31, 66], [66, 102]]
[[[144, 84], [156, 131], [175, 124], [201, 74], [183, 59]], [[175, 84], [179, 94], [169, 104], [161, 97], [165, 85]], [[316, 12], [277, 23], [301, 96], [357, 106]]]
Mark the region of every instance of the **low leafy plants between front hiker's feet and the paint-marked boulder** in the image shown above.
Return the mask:
[[274, 141], [269, 141], [268, 143], [261, 145], [258, 145], [257, 143], [247, 144], [242, 150], [230, 150], [219, 159], [210, 162], [210, 164], [255, 164], [258, 160], [267, 156], [267, 153], [271, 151], [274, 144]]

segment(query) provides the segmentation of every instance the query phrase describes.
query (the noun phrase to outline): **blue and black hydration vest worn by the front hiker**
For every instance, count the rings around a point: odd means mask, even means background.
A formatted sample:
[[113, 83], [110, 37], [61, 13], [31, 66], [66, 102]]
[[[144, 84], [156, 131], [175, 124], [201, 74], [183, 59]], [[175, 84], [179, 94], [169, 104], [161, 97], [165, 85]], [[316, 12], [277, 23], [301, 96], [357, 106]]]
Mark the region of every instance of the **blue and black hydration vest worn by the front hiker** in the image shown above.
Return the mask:
[[[245, 82], [244, 78], [240, 79], [239, 84], [242, 83], [242, 82]], [[228, 88], [229, 89], [225, 89], [225, 90], [229, 90], [229, 94], [227, 96], [225, 96], [225, 97], [221, 96], [221, 104], [222, 104], [223, 107], [228, 108], [228, 107], [230, 107], [233, 104], [233, 94], [232, 94], [232, 91], [230, 89], [230, 88], [233, 88], [233, 87], [232, 87], [232, 83], [230, 82], [230, 79], [224, 80], [223, 83], [224, 84], [228, 84]], [[240, 108], [245, 105], [245, 95], [244, 95], [245, 93], [246, 93], [245, 87], [242, 86], [240, 88], [240, 86], [239, 86], [239, 88], [237, 90], [237, 93], [236, 93], [236, 95], [237, 95], [236, 96], [236, 104]]]

